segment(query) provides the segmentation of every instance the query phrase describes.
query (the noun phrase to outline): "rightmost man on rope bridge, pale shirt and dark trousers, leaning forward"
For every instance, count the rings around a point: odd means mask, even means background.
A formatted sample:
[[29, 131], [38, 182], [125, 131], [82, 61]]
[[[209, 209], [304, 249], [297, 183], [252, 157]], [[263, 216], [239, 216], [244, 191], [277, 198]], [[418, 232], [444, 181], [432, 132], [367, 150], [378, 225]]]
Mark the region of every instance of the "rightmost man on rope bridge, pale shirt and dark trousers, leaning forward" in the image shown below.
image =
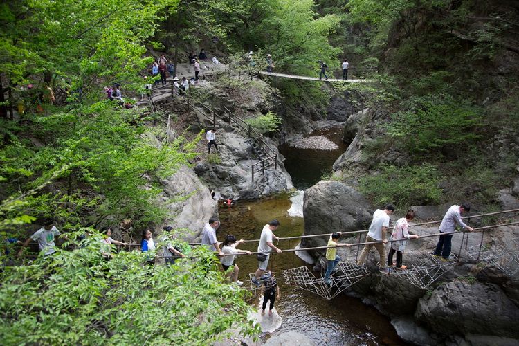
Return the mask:
[[[448, 208], [444, 218], [441, 220], [441, 224], [439, 225], [439, 233], [453, 233], [455, 231], [456, 224], [462, 229], [466, 229], [468, 232], [472, 232], [474, 229], [470, 226], [467, 226], [462, 221], [462, 213], [470, 211], [471, 205], [468, 203], [463, 203], [461, 206], [457, 206], [455, 204], [454, 206]], [[452, 246], [452, 239], [452, 234], [440, 235], [438, 244], [436, 244], [435, 252], [432, 253], [432, 255], [435, 257], [439, 257], [441, 255], [442, 261], [448, 261], [450, 256], [450, 248]]]

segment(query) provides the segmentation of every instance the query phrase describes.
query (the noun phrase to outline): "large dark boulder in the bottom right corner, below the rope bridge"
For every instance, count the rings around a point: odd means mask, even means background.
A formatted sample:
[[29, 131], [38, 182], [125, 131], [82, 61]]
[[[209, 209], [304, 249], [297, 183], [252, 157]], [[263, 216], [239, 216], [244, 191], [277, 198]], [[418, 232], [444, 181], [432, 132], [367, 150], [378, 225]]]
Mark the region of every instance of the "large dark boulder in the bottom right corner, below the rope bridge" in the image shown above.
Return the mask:
[[494, 284], [448, 282], [419, 301], [415, 318], [442, 334], [519, 338], [519, 309]]

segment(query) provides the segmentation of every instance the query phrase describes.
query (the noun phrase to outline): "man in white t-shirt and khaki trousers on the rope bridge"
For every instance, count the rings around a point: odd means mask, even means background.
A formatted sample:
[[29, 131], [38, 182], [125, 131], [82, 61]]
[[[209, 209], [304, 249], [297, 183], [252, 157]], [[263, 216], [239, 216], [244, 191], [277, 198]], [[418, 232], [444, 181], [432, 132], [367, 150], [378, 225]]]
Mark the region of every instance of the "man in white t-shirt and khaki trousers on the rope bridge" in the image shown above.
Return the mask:
[[[362, 266], [366, 262], [367, 254], [370, 253], [370, 248], [374, 246], [380, 255], [380, 271], [385, 273], [388, 267], [385, 265], [385, 247], [388, 241], [385, 239], [385, 232], [389, 226], [390, 215], [394, 212], [394, 206], [388, 204], [384, 210], [377, 209], [373, 213], [373, 219], [370, 225], [370, 231], [366, 235], [366, 242], [376, 242], [376, 244], [365, 244], [361, 256], [358, 257], [358, 266]], [[382, 242], [382, 244], [381, 244]]]

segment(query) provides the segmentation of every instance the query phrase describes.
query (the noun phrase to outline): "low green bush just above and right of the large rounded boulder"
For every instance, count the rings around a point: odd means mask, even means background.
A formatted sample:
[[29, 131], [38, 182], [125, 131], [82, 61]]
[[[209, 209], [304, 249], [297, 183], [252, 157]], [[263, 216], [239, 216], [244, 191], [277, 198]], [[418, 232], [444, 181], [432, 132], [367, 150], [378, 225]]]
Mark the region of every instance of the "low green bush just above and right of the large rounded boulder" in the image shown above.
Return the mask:
[[441, 190], [439, 173], [433, 165], [397, 167], [381, 165], [376, 175], [361, 177], [361, 192], [375, 206], [393, 203], [399, 208], [412, 205], [438, 203]]

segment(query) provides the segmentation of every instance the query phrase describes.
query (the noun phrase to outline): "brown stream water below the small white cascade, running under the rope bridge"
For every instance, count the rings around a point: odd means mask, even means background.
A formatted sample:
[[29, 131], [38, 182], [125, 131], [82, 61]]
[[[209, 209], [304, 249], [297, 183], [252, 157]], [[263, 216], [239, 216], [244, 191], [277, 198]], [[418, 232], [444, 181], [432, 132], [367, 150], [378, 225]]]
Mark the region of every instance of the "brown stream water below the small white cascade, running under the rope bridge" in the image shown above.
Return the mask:
[[[221, 227], [219, 240], [233, 234], [237, 239], [259, 239], [261, 230], [271, 219], [280, 221], [275, 234], [279, 237], [302, 235], [303, 219], [289, 217], [289, 195], [280, 195], [260, 201], [238, 201], [232, 208], [219, 210]], [[298, 240], [284, 240], [279, 248], [294, 248]], [[257, 243], [245, 243], [240, 248], [256, 251]], [[239, 278], [257, 269], [254, 256], [239, 256]], [[339, 295], [334, 300], [325, 300], [318, 295], [286, 285], [281, 272], [286, 268], [304, 266], [295, 253], [272, 255], [271, 270], [279, 276], [281, 299], [276, 300], [277, 311], [283, 318], [280, 332], [299, 331], [316, 341], [316, 345], [401, 345], [390, 321], [375, 309], [360, 301]]]

